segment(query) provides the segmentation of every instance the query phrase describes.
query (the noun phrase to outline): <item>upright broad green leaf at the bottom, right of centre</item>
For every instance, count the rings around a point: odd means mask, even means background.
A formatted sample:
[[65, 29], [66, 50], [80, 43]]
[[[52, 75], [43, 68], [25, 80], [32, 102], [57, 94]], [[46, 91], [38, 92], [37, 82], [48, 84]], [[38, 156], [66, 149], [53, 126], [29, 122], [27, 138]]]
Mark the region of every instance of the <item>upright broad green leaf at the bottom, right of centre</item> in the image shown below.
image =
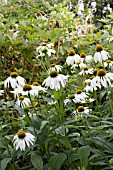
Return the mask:
[[78, 149], [78, 155], [80, 157], [80, 163], [81, 163], [81, 167], [84, 170], [87, 170], [87, 166], [88, 166], [88, 156], [90, 154], [91, 151], [91, 147], [90, 146], [82, 146]]

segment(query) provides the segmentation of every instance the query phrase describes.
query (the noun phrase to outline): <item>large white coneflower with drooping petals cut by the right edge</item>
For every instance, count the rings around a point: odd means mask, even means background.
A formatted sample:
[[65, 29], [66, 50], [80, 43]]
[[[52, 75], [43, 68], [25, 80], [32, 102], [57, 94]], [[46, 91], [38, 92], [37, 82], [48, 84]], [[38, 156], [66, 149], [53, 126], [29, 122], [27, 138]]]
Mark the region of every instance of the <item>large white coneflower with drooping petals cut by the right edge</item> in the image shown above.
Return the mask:
[[107, 73], [105, 69], [99, 69], [97, 71], [97, 76], [91, 81], [91, 87], [109, 87], [111, 86], [111, 80], [113, 80], [113, 73]]

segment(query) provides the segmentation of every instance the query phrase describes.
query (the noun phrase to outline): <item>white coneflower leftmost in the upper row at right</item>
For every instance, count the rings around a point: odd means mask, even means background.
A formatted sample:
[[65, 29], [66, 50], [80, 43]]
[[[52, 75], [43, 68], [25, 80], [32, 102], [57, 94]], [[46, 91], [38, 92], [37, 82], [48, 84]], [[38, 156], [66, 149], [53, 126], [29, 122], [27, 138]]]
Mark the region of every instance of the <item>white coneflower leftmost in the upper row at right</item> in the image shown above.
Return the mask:
[[67, 65], [73, 65], [76, 62], [80, 62], [80, 61], [81, 61], [80, 56], [76, 54], [74, 50], [68, 51], [68, 57], [66, 58]]

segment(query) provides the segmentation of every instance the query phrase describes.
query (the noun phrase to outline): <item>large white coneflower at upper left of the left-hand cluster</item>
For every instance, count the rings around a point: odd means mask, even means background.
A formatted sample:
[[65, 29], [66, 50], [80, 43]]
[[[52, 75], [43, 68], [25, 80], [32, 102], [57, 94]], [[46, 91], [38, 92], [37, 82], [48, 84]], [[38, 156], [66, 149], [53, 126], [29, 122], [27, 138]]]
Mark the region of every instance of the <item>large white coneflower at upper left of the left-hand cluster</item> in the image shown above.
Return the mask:
[[23, 86], [25, 84], [25, 79], [18, 75], [17, 72], [12, 72], [10, 77], [8, 77], [4, 82], [4, 87], [12, 87], [13, 89], [18, 86]]

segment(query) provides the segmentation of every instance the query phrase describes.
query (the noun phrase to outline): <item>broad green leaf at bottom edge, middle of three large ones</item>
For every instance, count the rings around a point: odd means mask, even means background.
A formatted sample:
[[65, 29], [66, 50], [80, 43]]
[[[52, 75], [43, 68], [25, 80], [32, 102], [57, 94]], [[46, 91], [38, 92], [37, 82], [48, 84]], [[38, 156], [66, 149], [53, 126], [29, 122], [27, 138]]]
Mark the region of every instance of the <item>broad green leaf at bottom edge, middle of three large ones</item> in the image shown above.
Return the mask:
[[60, 167], [66, 158], [67, 156], [65, 153], [58, 153], [55, 156], [52, 156], [49, 160], [50, 168], [54, 170], [60, 170]]

